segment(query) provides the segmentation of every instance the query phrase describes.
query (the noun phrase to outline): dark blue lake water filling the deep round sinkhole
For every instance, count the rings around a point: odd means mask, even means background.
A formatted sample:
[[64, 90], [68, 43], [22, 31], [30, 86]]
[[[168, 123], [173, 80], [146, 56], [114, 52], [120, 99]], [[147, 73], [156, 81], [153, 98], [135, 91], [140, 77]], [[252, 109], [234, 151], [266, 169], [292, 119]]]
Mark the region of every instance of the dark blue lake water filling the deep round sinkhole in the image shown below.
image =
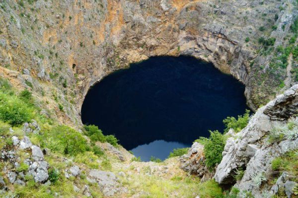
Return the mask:
[[248, 109], [243, 93], [244, 85], [210, 63], [153, 57], [94, 85], [81, 117], [143, 160], [164, 159], [173, 148], [208, 137], [208, 130], [223, 132], [224, 118]]

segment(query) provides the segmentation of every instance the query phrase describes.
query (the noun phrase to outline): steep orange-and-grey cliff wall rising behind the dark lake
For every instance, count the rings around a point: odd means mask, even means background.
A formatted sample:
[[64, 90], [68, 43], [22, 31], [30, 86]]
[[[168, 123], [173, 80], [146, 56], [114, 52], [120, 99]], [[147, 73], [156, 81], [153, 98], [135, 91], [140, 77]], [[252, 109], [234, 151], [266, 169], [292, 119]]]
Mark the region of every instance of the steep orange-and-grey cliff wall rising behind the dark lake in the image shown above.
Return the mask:
[[[16, 1], [6, 3], [18, 6]], [[0, 34], [0, 64], [7, 66], [1, 73], [14, 85], [46, 97], [53, 115], [72, 124], [80, 122], [89, 87], [111, 71], [152, 56], [187, 55], [212, 62], [243, 82], [248, 103], [256, 109], [279, 93], [277, 87], [286, 77], [285, 68], [269, 66], [274, 53], [256, 53], [263, 50], [258, 38], [272, 37], [274, 47], [286, 47], [284, 38], [293, 34], [290, 26], [298, 13], [294, 4], [295, 0], [102, 0], [98, 6], [96, 1], [34, 1], [39, 13], [23, 10], [28, 17], [21, 17], [20, 9], [0, 12], [5, 32]], [[34, 31], [37, 19], [39, 30]], [[54, 108], [53, 91], [67, 111]]]

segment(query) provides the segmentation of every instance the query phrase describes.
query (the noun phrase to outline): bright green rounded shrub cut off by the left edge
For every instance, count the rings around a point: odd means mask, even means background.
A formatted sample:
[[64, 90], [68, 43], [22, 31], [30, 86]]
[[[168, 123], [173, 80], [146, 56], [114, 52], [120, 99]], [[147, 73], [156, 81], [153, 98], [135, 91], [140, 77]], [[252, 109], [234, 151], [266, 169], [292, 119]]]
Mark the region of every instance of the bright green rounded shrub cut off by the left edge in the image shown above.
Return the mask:
[[17, 96], [0, 92], [0, 120], [16, 126], [29, 122], [32, 118], [32, 108], [24, 104]]

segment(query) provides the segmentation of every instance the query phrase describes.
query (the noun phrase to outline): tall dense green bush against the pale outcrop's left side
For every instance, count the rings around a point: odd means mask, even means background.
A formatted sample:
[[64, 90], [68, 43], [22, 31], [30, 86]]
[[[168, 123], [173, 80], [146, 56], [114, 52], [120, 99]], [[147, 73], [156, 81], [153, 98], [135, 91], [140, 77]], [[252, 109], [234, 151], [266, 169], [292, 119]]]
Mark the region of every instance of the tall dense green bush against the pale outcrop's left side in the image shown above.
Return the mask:
[[208, 168], [213, 168], [223, 159], [225, 137], [219, 131], [209, 131], [210, 137], [206, 138], [204, 143], [205, 163]]

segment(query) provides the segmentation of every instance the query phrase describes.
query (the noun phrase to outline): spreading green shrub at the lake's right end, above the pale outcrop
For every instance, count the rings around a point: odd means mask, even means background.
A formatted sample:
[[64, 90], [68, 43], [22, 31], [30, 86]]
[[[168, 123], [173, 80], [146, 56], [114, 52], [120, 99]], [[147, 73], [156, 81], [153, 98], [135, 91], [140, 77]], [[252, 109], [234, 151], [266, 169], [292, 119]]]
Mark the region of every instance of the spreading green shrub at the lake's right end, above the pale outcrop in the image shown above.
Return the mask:
[[249, 121], [249, 113], [250, 111], [246, 109], [243, 116], [238, 116], [238, 119], [234, 117], [227, 117], [224, 119], [223, 123], [225, 125], [224, 132], [228, 132], [229, 129], [233, 129], [235, 132], [240, 132], [244, 129]]

